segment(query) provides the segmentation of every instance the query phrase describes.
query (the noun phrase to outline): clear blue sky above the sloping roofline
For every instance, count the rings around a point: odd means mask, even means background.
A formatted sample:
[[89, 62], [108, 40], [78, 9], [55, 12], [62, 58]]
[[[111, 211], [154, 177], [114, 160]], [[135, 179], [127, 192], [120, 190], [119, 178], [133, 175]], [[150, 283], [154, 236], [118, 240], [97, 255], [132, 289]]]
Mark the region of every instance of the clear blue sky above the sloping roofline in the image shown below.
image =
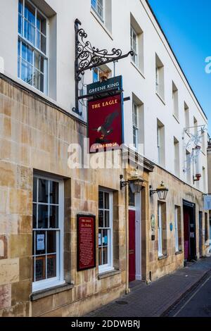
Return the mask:
[[205, 58], [211, 56], [211, 1], [149, 0], [149, 3], [207, 115], [211, 134], [211, 73], [205, 73]]

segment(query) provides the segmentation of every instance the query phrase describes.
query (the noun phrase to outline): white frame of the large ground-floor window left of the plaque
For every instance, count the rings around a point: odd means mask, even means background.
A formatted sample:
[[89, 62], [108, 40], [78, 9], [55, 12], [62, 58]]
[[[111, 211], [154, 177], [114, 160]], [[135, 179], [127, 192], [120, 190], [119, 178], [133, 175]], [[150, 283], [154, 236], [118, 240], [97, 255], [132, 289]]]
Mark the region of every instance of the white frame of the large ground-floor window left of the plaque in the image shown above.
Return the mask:
[[[63, 278], [64, 277], [64, 274], [63, 274], [64, 183], [63, 183], [63, 180], [60, 180], [57, 177], [51, 177], [51, 176], [45, 176], [45, 175], [34, 174], [33, 181], [34, 181], [34, 178], [37, 179], [37, 184], [39, 182], [39, 179], [58, 182], [58, 228], [55, 228], [55, 229], [53, 228], [54, 231], [58, 232], [58, 235], [56, 235], [56, 277], [46, 278], [44, 280], [38, 280], [37, 282], [35, 280], [34, 282], [32, 282], [32, 292], [37, 292], [42, 289], [55, 287], [55, 286], [62, 285], [65, 283], [65, 280]], [[33, 206], [34, 206], [34, 204], [36, 204], [37, 206], [42, 205], [42, 203], [40, 203], [38, 201], [38, 194], [39, 194], [39, 189], [37, 186], [37, 201], [34, 202], [34, 199], [32, 199]], [[48, 201], [48, 203], [44, 203], [43, 205], [50, 206], [51, 204], [49, 204], [49, 201]], [[38, 208], [37, 208], [36, 214], [38, 216]], [[47, 230], [49, 230], [49, 229], [47, 229]], [[36, 227], [34, 229], [33, 224], [32, 224], [32, 234], [33, 234], [33, 232], [36, 233], [37, 231], [46, 231], [46, 229], [38, 228], [38, 227]], [[32, 236], [32, 238], [33, 238], [33, 236]], [[34, 256], [39, 256], [36, 254], [35, 242], [36, 242], [36, 239], [34, 239], [34, 242], [32, 242], [32, 245], [34, 245], [34, 255], [32, 254], [32, 258]], [[46, 254], [46, 253], [41, 254], [41, 256], [43, 256], [43, 255], [47, 256], [48, 254]], [[51, 255], [51, 254], [49, 254], [49, 255]], [[32, 261], [33, 261], [33, 259], [32, 259]], [[36, 272], [35, 266], [36, 266], [36, 262], [35, 262], [35, 258], [34, 258], [34, 268], [33, 268], [34, 275]], [[34, 279], [35, 279], [35, 277], [34, 277]]]

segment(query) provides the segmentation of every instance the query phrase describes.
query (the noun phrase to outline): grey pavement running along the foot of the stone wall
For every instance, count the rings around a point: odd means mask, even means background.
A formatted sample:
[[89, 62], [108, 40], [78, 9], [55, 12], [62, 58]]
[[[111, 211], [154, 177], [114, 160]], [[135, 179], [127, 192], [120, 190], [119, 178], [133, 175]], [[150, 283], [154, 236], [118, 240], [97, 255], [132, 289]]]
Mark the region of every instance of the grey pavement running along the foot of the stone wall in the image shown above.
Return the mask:
[[165, 316], [179, 300], [191, 292], [211, 270], [211, 257], [188, 263], [170, 275], [146, 285], [132, 282], [131, 292], [98, 308], [86, 317], [158, 317]]

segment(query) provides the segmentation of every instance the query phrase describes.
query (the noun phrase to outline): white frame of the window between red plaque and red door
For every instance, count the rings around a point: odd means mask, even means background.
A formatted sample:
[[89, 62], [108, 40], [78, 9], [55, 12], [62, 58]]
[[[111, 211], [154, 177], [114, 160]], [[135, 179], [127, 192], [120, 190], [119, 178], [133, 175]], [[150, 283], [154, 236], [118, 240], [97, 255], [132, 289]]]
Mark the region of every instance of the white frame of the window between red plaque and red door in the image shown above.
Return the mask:
[[[110, 227], [99, 227], [98, 226], [98, 233], [99, 230], [110, 230], [110, 236], [108, 239], [108, 263], [106, 264], [99, 264], [98, 261], [98, 273], [106, 273], [108, 271], [112, 271], [114, 270], [114, 266], [113, 266], [113, 192], [108, 190], [108, 189], [103, 189], [103, 188], [99, 188], [98, 189], [98, 193], [99, 192], [103, 192], [103, 207], [104, 207], [104, 193], [108, 193], [109, 194], [109, 220], [110, 220]], [[98, 206], [98, 211], [108, 211], [107, 208], [99, 208]], [[103, 213], [104, 215], [104, 213]], [[104, 216], [103, 216], [104, 217]], [[99, 220], [99, 218], [98, 218]], [[99, 224], [99, 223], [98, 223]], [[99, 246], [98, 246], [98, 250], [99, 250]]]

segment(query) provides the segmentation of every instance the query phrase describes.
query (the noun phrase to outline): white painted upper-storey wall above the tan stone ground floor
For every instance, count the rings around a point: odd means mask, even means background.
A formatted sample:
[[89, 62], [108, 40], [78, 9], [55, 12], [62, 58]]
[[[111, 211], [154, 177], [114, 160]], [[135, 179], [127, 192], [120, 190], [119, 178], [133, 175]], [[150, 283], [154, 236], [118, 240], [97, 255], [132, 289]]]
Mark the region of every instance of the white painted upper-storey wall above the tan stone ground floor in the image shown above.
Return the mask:
[[[105, 0], [109, 1], [110, 0]], [[207, 123], [207, 119], [191, 92], [188, 83], [172, 54], [170, 46], [162, 35], [158, 23], [148, 8], [145, 0], [112, 0], [112, 31], [103, 26], [91, 10], [91, 0], [34, 0], [40, 9], [49, 15], [51, 50], [49, 96], [59, 106], [70, 111], [75, 106], [75, 18], [82, 21], [82, 27], [88, 33], [89, 41], [100, 49], [130, 50], [130, 16], [143, 30], [143, 73], [140, 73], [131, 62], [130, 57], [119, 61], [116, 75], [123, 76], [124, 96], [135, 94], [143, 102], [144, 108], [144, 141], [145, 156], [157, 163], [157, 118], [165, 125], [165, 168], [174, 173], [174, 137], [180, 145], [180, 178], [183, 173], [183, 130], [185, 127], [184, 101], [190, 111], [190, 125], [193, 116], [198, 125]], [[56, 13], [56, 15], [55, 15]], [[0, 58], [4, 59], [4, 73], [13, 79], [17, 78], [18, 63], [18, 0], [0, 0]], [[53, 43], [56, 40], [56, 44]], [[52, 54], [53, 50], [53, 54]], [[165, 67], [165, 104], [155, 94], [155, 53]], [[1, 61], [2, 62], [2, 61]], [[113, 70], [113, 64], [109, 65]], [[179, 122], [172, 115], [172, 80], [179, 91]], [[91, 82], [91, 73], [84, 81]], [[20, 81], [19, 81], [20, 82]], [[25, 83], [23, 82], [23, 85]], [[32, 87], [28, 86], [30, 89]], [[39, 94], [39, 92], [37, 92]], [[84, 120], [86, 115], [84, 113]], [[124, 137], [125, 143], [132, 143], [132, 100], [124, 103]], [[186, 135], [187, 136], [187, 135]], [[185, 137], [188, 139], [188, 137]], [[205, 154], [200, 155], [200, 168], [207, 169]], [[193, 173], [191, 174], [191, 176]], [[203, 190], [203, 180], [198, 186]]]

